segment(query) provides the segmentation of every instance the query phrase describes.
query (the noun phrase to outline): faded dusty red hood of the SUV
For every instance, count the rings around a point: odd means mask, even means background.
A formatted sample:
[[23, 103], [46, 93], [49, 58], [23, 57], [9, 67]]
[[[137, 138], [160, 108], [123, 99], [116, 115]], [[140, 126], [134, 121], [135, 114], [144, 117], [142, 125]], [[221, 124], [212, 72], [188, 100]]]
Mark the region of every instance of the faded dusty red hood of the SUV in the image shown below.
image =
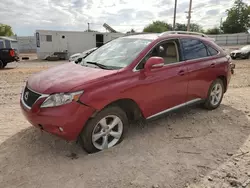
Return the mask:
[[97, 81], [116, 72], [117, 70], [65, 63], [32, 75], [27, 85], [30, 89], [43, 94], [68, 92], [77, 86]]

